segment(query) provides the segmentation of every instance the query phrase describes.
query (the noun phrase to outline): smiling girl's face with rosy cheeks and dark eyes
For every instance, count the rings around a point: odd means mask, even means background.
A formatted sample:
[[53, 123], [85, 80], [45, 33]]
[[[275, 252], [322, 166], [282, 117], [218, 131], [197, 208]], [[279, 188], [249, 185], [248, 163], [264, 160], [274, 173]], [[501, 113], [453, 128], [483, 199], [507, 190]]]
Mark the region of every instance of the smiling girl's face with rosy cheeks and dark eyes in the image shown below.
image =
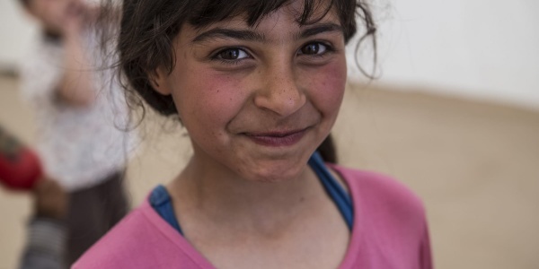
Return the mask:
[[344, 38], [336, 14], [299, 26], [301, 1], [249, 27], [242, 17], [174, 40], [172, 74], [155, 89], [172, 94], [205, 169], [250, 180], [295, 178], [330, 133], [346, 82]]

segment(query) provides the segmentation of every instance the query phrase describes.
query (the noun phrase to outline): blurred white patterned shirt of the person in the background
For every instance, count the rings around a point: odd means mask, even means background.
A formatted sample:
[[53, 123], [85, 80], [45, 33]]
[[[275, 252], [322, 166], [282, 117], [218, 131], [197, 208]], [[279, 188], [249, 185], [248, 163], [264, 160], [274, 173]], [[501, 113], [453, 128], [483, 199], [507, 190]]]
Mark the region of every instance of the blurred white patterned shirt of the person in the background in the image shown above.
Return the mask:
[[[92, 70], [96, 99], [88, 107], [67, 105], [57, 99], [65, 67], [61, 41], [40, 37], [22, 63], [22, 96], [36, 114], [37, 152], [45, 172], [69, 191], [93, 187], [122, 171], [137, 145], [137, 135], [127, 129], [128, 108], [113, 71], [97, 71], [106, 59], [95, 35], [88, 34], [93, 52]], [[86, 40], [86, 39], [85, 39]]]

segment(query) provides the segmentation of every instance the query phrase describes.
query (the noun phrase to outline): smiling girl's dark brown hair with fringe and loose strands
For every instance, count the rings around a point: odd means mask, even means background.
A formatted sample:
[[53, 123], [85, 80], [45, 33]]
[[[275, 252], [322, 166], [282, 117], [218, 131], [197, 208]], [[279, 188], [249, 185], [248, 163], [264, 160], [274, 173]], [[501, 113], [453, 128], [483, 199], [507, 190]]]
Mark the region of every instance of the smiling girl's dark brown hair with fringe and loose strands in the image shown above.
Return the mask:
[[[150, 74], [163, 68], [172, 72], [176, 57], [172, 40], [179, 34], [181, 25], [189, 23], [202, 28], [238, 15], [245, 15], [249, 26], [254, 26], [265, 16], [294, 0], [123, 0], [118, 39], [119, 67], [126, 90], [137, 94], [163, 116], [177, 114], [170, 95], [155, 91]], [[363, 40], [371, 38], [376, 47], [375, 23], [366, 0], [303, 0], [304, 9], [296, 18], [300, 25], [318, 22], [333, 9], [340, 18], [344, 39], [348, 43], [361, 23]], [[323, 13], [318, 13], [321, 10]], [[358, 47], [357, 47], [358, 48]], [[376, 61], [376, 49], [375, 61]], [[361, 68], [360, 68], [361, 70]], [[368, 75], [368, 74], [367, 74]], [[331, 135], [326, 138], [319, 152], [325, 161], [336, 162]]]

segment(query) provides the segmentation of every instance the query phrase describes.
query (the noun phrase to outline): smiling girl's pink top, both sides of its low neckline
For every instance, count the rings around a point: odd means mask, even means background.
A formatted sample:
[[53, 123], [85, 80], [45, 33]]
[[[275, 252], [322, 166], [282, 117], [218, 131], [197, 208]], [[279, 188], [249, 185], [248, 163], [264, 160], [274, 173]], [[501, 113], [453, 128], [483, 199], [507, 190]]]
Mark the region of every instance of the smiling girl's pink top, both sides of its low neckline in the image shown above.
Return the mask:
[[[340, 269], [430, 269], [420, 199], [392, 178], [332, 166], [349, 187], [354, 226]], [[119, 222], [73, 268], [215, 268], [147, 202]]]

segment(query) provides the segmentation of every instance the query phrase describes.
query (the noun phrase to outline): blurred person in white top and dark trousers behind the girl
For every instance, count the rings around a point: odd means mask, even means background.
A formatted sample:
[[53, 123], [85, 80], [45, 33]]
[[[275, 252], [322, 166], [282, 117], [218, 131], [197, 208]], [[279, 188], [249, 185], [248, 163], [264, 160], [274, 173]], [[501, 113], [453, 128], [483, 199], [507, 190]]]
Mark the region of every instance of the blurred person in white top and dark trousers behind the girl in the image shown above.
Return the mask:
[[[36, 114], [45, 174], [70, 195], [66, 264], [71, 265], [128, 212], [123, 180], [136, 135], [122, 131], [126, 102], [100, 68], [99, 8], [80, 0], [20, 0], [40, 23], [22, 62], [21, 88]], [[104, 70], [104, 71], [103, 71]]]

